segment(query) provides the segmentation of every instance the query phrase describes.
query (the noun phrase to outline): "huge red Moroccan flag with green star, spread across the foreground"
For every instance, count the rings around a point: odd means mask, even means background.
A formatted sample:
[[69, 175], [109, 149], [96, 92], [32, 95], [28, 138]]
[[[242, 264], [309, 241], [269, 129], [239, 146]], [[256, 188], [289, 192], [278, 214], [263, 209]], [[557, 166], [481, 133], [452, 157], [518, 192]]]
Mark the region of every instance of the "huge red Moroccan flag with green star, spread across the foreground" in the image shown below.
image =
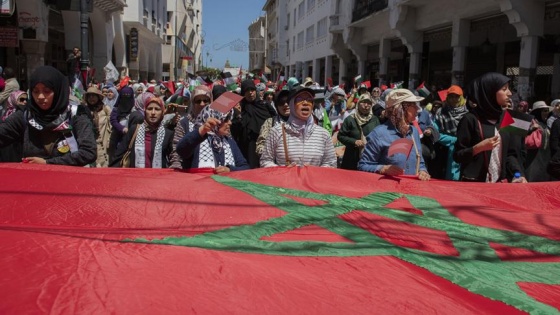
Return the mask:
[[1, 314], [557, 314], [560, 185], [0, 165]]

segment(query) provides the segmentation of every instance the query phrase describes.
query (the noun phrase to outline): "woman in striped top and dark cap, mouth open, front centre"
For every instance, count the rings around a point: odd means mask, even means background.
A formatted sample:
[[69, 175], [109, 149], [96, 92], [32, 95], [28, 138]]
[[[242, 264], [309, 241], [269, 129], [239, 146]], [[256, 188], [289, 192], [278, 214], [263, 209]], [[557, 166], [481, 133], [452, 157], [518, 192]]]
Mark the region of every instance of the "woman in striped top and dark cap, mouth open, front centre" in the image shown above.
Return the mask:
[[313, 119], [314, 92], [303, 86], [289, 92], [290, 117], [271, 129], [261, 156], [261, 167], [336, 167], [331, 136]]

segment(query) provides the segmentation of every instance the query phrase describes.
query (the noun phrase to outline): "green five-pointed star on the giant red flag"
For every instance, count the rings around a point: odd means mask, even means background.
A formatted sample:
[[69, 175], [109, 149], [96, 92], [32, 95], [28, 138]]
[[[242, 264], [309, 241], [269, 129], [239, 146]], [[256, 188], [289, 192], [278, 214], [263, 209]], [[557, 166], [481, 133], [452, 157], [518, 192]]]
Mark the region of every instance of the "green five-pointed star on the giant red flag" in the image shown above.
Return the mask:
[[[425, 268], [471, 292], [500, 300], [530, 313], [558, 313], [558, 310], [527, 295], [518, 282], [560, 284], [560, 263], [502, 261], [490, 243], [560, 256], [560, 242], [523, 233], [467, 224], [453, 216], [436, 200], [400, 193], [372, 193], [347, 198], [301, 190], [278, 188], [214, 176], [214, 180], [250, 194], [287, 214], [253, 225], [240, 225], [193, 237], [169, 237], [136, 242], [201, 247], [243, 253], [283, 256], [394, 256]], [[305, 206], [292, 198], [321, 200], [320, 206]], [[424, 215], [387, 208], [405, 197]], [[394, 245], [339, 216], [354, 210], [447, 233], [459, 256], [446, 256]], [[347, 242], [269, 242], [263, 237], [315, 224], [351, 240]]]

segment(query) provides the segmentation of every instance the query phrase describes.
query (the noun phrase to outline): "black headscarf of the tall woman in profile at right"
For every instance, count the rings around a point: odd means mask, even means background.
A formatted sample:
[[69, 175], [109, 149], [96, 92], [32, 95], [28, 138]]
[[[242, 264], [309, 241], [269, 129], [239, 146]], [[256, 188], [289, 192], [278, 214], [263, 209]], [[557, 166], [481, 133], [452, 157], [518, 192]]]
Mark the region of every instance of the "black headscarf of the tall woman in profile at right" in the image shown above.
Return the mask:
[[479, 118], [498, 120], [503, 109], [496, 101], [496, 92], [509, 81], [510, 78], [497, 72], [489, 72], [474, 79], [465, 91], [467, 99], [476, 103], [471, 111]]

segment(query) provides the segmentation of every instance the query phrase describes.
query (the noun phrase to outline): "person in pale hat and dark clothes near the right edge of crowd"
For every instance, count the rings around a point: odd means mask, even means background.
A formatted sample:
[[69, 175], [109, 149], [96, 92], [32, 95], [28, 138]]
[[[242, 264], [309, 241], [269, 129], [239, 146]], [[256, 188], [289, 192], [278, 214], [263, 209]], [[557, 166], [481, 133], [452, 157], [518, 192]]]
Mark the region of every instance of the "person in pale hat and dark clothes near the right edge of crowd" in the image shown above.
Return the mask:
[[546, 120], [552, 107], [544, 101], [533, 103], [530, 114], [535, 118], [531, 125], [530, 133], [525, 137], [525, 178], [528, 182], [549, 181], [550, 177], [546, 167], [550, 161], [550, 130], [546, 126]]

